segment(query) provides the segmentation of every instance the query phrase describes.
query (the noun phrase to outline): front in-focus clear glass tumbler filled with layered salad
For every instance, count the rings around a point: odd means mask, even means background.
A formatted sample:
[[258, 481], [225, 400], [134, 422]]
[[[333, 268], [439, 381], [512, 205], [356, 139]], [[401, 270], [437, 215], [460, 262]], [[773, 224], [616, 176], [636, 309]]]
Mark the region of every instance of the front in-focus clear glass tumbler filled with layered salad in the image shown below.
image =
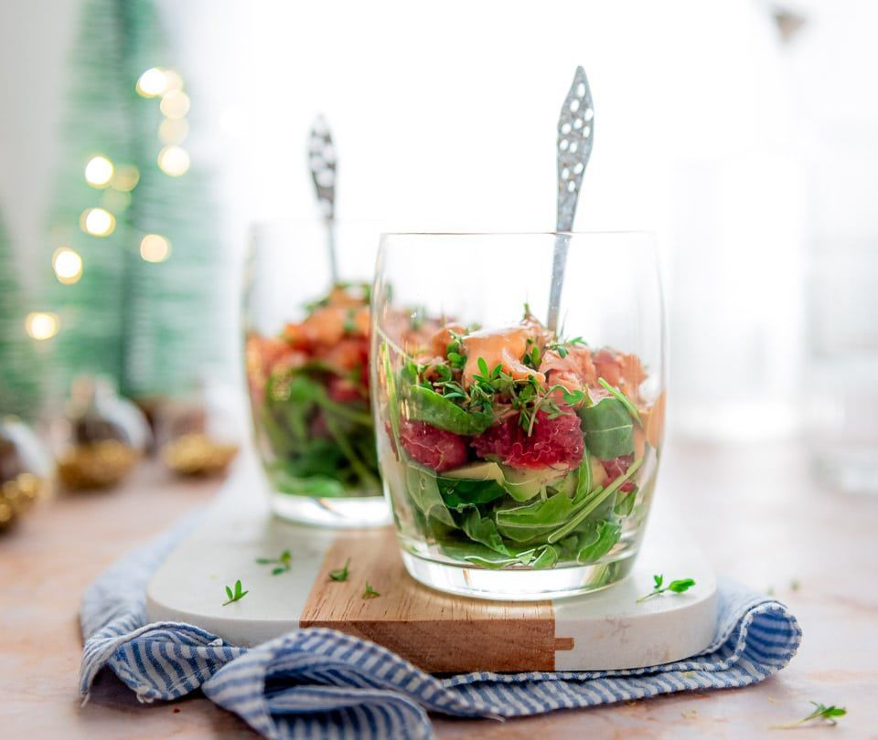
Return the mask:
[[653, 238], [390, 234], [372, 289], [372, 399], [409, 573], [538, 599], [630, 571], [658, 469], [664, 331]]

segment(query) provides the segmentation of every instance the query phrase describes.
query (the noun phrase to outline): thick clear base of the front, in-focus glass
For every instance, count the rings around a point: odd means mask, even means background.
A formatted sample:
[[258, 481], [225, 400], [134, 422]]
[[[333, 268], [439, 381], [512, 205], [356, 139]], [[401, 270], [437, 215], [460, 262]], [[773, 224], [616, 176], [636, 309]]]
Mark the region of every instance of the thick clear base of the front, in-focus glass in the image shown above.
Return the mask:
[[402, 551], [405, 569], [424, 586], [458, 596], [494, 601], [539, 601], [599, 591], [621, 581], [634, 566], [635, 550], [592, 566], [530, 570], [449, 565]]

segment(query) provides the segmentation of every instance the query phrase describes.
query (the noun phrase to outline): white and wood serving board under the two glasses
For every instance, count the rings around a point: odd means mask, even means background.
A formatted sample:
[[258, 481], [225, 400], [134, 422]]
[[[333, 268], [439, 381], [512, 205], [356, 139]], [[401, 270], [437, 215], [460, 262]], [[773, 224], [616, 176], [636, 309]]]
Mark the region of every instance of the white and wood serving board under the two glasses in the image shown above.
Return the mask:
[[[713, 638], [715, 577], [660, 505], [622, 583], [554, 601], [490, 602], [414, 581], [390, 527], [333, 531], [274, 519], [264, 485], [251, 464], [241, 465], [155, 573], [147, 589], [150, 620], [190, 622], [237, 645], [299, 627], [338, 629], [431, 672], [637, 668], [689, 657]], [[279, 576], [255, 562], [285, 549], [292, 567]], [[330, 580], [329, 571], [348, 558], [348, 580]], [[693, 577], [697, 586], [637, 604], [654, 573]], [[237, 578], [250, 593], [221, 606], [224, 587]], [[367, 580], [380, 597], [362, 598]]]

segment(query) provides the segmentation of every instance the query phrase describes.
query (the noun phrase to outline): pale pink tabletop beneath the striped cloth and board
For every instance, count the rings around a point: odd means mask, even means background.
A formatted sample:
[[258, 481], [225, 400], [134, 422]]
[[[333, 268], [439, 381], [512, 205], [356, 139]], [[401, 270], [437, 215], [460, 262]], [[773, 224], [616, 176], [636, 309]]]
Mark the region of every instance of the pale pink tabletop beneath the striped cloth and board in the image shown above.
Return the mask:
[[[659, 495], [677, 505], [717, 570], [773, 588], [805, 632], [792, 664], [746, 689], [498, 723], [435, 718], [444, 738], [748, 738], [843, 704], [835, 728], [794, 737], [878, 738], [878, 498], [821, 489], [796, 444], [668, 449]], [[104, 674], [76, 693], [82, 589], [114, 558], [209, 502], [215, 483], [139, 470], [122, 490], [61, 497], [0, 537], [0, 737], [229, 738], [256, 735], [204, 698], [139, 704]], [[710, 533], [710, 534], [706, 534]]]

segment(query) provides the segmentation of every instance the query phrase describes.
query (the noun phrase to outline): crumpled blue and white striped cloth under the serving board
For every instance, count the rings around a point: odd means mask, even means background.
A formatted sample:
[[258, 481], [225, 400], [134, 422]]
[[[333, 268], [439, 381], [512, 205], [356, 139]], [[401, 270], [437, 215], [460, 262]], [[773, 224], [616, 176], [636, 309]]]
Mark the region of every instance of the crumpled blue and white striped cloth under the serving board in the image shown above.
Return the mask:
[[190, 518], [107, 569], [80, 612], [80, 692], [108, 666], [143, 702], [200, 689], [271, 738], [430, 738], [427, 713], [503, 719], [556, 709], [725, 689], [780, 671], [801, 640], [772, 598], [721, 581], [710, 648], [634, 671], [467, 673], [436, 678], [389, 650], [331, 629], [296, 629], [250, 650], [177, 622], [146, 624], [145, 589]]

